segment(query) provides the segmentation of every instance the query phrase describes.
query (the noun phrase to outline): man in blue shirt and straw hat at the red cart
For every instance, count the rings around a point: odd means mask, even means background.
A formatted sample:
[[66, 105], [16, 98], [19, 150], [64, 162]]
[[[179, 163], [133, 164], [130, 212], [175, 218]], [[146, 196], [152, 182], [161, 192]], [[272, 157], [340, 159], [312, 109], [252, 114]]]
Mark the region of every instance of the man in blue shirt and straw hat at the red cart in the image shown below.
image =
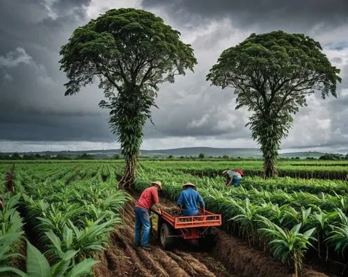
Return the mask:
[[196, 190], [196, 185], [186, 183], [182, 187], [184, 190], [180, 192], [179, 199], [177, 199], [177, 205], [182, 208], [182, 215], [198, 215], [198, 202], [203, 210], [205, 205], [202, 196]]

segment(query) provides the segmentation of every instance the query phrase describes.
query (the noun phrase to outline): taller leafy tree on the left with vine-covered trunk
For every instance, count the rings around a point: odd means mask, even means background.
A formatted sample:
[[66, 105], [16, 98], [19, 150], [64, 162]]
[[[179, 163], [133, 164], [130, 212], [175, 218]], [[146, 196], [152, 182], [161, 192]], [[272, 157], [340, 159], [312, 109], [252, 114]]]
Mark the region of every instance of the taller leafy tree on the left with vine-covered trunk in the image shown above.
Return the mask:
[[70, 80], [65, 95], [94, 81], [104, 91], [100, 106], [110, 110], [109, 124], [125, 157], [120, 185], [132, 187], [143, 126], [151, 120], [158, 85], [173, 83], [186, 69], [193, 71], [197, 61], [191, 45], [151, 12], [120, 8], [77, 28], [60, 53], [61, 69]]

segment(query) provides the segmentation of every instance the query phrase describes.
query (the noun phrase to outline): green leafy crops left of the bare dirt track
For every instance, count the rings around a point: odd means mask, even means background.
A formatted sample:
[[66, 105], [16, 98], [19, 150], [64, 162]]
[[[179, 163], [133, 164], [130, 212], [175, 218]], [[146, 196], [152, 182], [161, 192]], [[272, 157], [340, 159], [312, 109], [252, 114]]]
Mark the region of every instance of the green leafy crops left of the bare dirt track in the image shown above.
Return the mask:
[[129, 198], [115, 178], [108, 164], [17, 164], [15, 191], [1, 183], [0, 275], [89, 276]]

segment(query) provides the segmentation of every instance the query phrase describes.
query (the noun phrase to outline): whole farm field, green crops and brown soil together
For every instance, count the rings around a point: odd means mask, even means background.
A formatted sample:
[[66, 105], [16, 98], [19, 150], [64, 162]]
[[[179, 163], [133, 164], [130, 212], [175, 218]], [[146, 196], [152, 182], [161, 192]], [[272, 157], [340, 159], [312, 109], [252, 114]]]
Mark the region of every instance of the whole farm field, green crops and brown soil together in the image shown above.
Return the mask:
[[[221, 171], [233, 167], [248, 176], [226, 188]], [[195, 183], [207, 209], [223, 215], [211, 251], [164, 251], [153, 233], [148, 253], [134, 246], [138, 194], [118, 190], [123, 160], [0, 162], [0, 276], [5, 265], [12, 276], [50, 276], [35, 272], [38, 260], [47, 272], [66, 268], [59, 276], [291, 276], [302, 263], [301, 276], [346, 276], [348, 162], [281, 161], [280, 176], [291, 177], [269, 180], [261, 169], [259, 160], [141, 160], [136, 190], [159, 180], [173, 205], [182, 184]]]

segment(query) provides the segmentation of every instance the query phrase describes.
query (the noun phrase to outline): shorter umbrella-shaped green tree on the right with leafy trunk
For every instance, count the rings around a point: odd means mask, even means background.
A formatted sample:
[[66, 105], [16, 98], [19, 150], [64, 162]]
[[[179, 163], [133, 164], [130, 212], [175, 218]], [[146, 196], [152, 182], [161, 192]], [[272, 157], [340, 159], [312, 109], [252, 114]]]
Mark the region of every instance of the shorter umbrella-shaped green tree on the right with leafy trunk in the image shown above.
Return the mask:
[[[264, 157], [264, 177], [277, 174], [275, 162], [281, 139], [292, 127], [292, 116], [307, 106], [306, 96], [336, 95], [340, 69], [322, 53], [319, 42], [303, 34], [274, 31], [252, 34], [230, 47], [207, 74], [212, 85], [235, 88], [237, 107], [253, 112], [253, 140]], [[301, 134], [299, 134], [301, 136]]]

